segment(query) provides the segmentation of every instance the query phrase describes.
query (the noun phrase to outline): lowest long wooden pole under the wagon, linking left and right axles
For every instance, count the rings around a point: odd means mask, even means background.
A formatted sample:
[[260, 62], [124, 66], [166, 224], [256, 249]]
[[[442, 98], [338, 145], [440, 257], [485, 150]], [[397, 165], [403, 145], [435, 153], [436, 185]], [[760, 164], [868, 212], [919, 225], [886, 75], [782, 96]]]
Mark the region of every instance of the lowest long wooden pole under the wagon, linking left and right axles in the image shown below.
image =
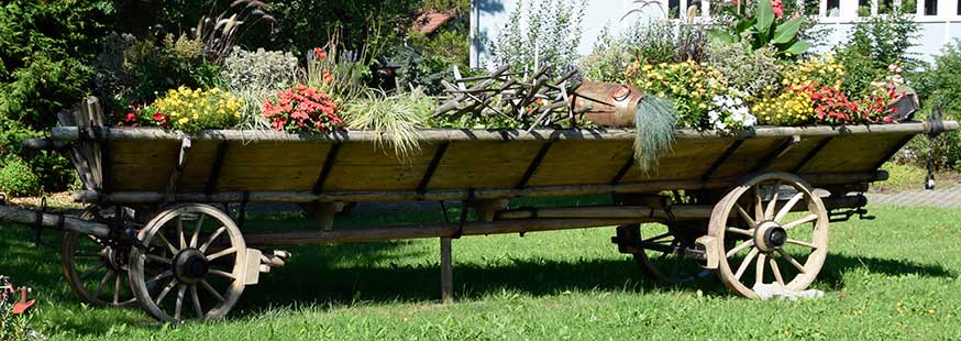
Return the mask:
[[[468, 222], [461, 235], [483, 235], [614, 227], [640, 223], [647, 219], [526, 219], [494, 222]], [[244, 234], [248, 246], [306, 245], [352, 243], [400, 239], [453, 238], [459, 224], [405, 226], [377, 229], [343, 229], [334, 231], [287, 231]]]

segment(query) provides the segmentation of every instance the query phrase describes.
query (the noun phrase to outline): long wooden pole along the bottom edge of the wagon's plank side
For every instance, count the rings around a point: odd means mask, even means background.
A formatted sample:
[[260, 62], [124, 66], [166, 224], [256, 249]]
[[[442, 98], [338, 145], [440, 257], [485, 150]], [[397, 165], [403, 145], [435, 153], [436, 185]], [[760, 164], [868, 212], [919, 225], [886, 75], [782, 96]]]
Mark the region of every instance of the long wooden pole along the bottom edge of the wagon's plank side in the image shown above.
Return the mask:
[[[815, 186], [831, 184], [872, 183], [887, 179], [887, 172], [877, 170], [871, 173], [829, 173], [829, 174], [800, 174], [800, 177]], [[478, 188], [474, 190], [473, 199], [505, 199], [518, 197], [561, 197], [596, 194], [631, 194], [654, 193], [667, 189], [723, 189], [737, 184], [739, 178], [707, 179], [707, 180], [658, 180], [626, 184], [597, 184], [597, 185], [570, 185], [570, 186], [539, 186], [527, 188]], [[250, 202], [369, 202], [369, 201], [440, 201], [440, 200], [466, 200], [471, 197], [468, 189], [438, 189], [418, 193], [417, 190], [350, 190], [328, 191], [314, 194], [311, 191], [251, 191]], [[242, 191], [224, 191], [207, 195], [203, 193], [179, 193], [175, 196], [177, 202], [241, 202], [244, 198]], [[96, 190], [80, 190], [74, 193], [74, 200], [78, 202], [96, 204], [101, 199]], [[163, 199], [163, 194], [150, 191], [119, 191], [103, 196], [107, 202], [118, 204], [154, 204]]]

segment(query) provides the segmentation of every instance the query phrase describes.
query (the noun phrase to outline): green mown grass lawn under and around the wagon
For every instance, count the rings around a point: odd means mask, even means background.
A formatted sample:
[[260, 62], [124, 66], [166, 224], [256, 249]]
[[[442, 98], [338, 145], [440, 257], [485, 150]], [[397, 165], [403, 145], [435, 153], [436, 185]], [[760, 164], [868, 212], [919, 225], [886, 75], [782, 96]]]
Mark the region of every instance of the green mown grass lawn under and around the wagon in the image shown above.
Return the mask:
[[[29, 322], [53, 340], [961, 338], [961, 209], [870, 209], [875, 220], [832, 226], [814, 284], [826, 296], [816, 300], [650, 283], [610, 244], [612, 228], [456, 240], [451, 306], [438, 304], [437, 240], [291, 248], [288, 265], [247, 287], [228, 319], [177, 328], [135, 309], [79, 304], [57, 252], [35, 249], [26, 229], [0, 226], [0, 274], [35, 288]], [[358, 216], [341, 220], [440, 219]], [[313, 228], [289, 215], [251, 224]]]

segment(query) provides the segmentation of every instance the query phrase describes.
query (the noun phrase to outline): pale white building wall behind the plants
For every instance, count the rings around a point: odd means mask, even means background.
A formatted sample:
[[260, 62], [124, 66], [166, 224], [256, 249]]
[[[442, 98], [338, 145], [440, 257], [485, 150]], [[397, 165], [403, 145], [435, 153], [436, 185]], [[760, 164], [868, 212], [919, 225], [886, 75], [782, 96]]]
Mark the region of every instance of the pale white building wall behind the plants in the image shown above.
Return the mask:
[[[545, 0], [523, 0], [524, 3], [543, 1]], [[871, 13], [877, 13], [877, 1], [871, 2]], [[471, 20], [474, 40], [471, 51], [472, 66], [489, 67], [487, 65], [490, 56], [488, 46], [490, 46], [491, 41], [497, 38], [498, 32], [507, 23], [510, 13], [518, 4], [518, 0], [472, 0], [472, 2], [474, 4]], [[609, 28], [611, 34], [616, 35], [622, 29], [640, 20], [664, 18], [665, 11], [670, 10], [667, 8], [669, 0], [650, 2], [653, 4], [641, 8], [633, 0], [587, 0], [585, 16], [582, 21], [583, 35], [577, 52], [581, 54], [590, 53], [595, 41], [605, 26]], [[899, 0], [894, 1], [895, 6], [901, 2]], [[915, 47], [914, 52], [917, 53], [918, 58], [930, 62], [934, 56], [940, 54], [946, 44], [961, 38], [961, 15], [958, 15], [961, 0], [937, 1], [936, 15], [923, 15], [926, 12], [925, 0], [916, 2], [917, 14], [913, 19], [920, 25], [920, 36], [917, 38], [918, 46]], [[700, 9], [700, 13], [709, 13], [708, 1], [677, 0], [677, 3], [686, 4], [688, 8], [697, 7]], [[808, 15], [817, 16], [822, 28], [830, 29], [827, 40], [819, 47], [819, 51], [827, 51], [842, 44], [847, 41], [853, 24], [858, 20], [863, 20], [858, 16], [858, 0], [839, 0], [838, 3], [839, 8], [829, 8], [828, 1], [821, 0], [817, 13], [808, 13]], [[680, 11], [676, 6], [675, 11], [680, 12], [681, 20], [687, 20], [685, 18], [687, 11]], [[698, 18], [697, 20], [709, 20], [709, 18]]]

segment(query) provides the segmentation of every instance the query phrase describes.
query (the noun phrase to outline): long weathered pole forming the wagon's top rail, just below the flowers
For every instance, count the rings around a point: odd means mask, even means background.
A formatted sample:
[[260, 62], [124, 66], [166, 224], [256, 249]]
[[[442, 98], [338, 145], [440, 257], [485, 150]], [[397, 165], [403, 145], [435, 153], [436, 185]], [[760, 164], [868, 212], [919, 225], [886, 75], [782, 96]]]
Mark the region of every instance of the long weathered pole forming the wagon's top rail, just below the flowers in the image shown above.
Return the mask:
[[[798, 136], [839, 136], [850, 134], [920, 134], [925, 131], [926, 122], [910, 122], [898, 124], [876, 125], [851, 125], [851, 127], [758, 127], [753, 130], [737, 132], [726, 131], [698, 131], [694, 129], [675, 130], [677, 140], [738, 140], [754, 138], [792, 138]], [[956, 121], [943, 122], [946, 131], [961, 130], [961, 124]], [[95, 133], [98, 131], [98, 133]], [[183, 135], [152, 128], [90, 128], [87, 138], [91, 140], [106, 139], [115, 141], [141, 141], [141, 140], [168, 140], [179, 141]], [[636, 134], [626, 129], [537, 129], [531, 132], [522, 130], [454, 130], [438, 129], [422, 130], [422, 142], [443, 141], [539, 141], [539, 140], [631, 140]], [[51, 138], [57, 141], [77, 141], [80, 139], [76, 127], [56, 127], [51, 131]], [[191, 140], [203, 141], [257, 141], [257, 142], [284, 142], [284, 141], [320, 141], [320, 142], [374, 142], [377, 133], [373, 131], [336, 131], [318, 134], [288, 134], [275, 131], [243, 131], [243, 130], [207, 130], [190, 135]]]

